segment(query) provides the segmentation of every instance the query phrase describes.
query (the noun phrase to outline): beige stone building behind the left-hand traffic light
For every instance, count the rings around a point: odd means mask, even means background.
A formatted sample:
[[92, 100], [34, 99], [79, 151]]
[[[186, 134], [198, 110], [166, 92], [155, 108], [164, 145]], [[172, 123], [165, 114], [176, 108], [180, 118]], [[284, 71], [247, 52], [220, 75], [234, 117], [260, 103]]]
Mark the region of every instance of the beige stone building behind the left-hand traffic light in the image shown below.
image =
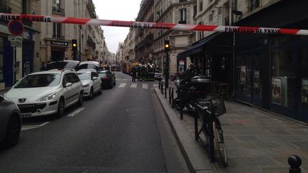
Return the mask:
[[[60, 17], [96, 19], [91, 0], [41, 0], [40, 14]], [[71, 40], [76, 39], [78, 53], [73, 56]], [[67, 23], [41, 23], [41, 62], [77, 60], [103, 61], [106, 51], [103, 30], [100, 26]]]

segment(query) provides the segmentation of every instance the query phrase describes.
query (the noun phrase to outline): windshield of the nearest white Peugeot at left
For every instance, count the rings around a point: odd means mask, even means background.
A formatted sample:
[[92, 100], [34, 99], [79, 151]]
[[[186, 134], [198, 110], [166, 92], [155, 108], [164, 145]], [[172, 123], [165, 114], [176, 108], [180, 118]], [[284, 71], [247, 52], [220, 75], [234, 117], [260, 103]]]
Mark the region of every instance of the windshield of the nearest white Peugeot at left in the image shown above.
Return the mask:
[[14, 88], [41, 88], [59, 85], [61, 74], [27, 75]]

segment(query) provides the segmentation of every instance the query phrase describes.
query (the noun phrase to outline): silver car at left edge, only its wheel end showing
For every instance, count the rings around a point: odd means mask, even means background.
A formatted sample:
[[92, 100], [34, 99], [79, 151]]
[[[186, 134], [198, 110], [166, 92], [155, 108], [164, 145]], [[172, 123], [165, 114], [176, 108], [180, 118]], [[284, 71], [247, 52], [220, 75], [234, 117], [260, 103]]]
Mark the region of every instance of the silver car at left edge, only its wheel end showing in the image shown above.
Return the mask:
[[12, 147], [19, 141], [21, 112], [17, 105], [0, 95], [0, 142]]

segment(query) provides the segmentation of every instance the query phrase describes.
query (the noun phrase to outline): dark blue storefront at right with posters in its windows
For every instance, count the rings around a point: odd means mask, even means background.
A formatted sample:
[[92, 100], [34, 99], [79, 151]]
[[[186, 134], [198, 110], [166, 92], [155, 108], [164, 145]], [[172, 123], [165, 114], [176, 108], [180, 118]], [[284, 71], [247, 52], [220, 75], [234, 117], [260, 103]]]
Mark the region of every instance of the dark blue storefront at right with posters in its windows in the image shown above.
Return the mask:
[[[237, 25], [307, 29], [307, 5], [281, 1]], [[308, 121], [308, 36], [237, 33], [234, 50], [235, 100]]]

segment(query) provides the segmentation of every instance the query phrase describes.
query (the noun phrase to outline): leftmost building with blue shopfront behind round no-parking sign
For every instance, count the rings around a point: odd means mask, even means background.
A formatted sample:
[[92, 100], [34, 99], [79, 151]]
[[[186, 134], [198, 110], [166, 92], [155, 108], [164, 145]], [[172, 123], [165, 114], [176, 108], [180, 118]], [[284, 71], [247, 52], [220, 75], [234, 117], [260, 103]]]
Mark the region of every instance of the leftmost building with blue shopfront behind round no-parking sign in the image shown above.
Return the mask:
[[[0, 12], [7, 14], [37, 14], [39, 2], [30, 0], [0, 1]], [[9, 21], [0, 20], [0, 90], [11, 87], [13, 79], [20, 80], [34, 70], [39, 70], [39, 22], [22, 21], [24, 23], [23, 41], [16, 47], [16, 63], [14, 64], [14, 48], [8, 40]], [[15, 70], [13, 70], [15, 69]], [[15, 74], [14, 74], [15, 73]]]

